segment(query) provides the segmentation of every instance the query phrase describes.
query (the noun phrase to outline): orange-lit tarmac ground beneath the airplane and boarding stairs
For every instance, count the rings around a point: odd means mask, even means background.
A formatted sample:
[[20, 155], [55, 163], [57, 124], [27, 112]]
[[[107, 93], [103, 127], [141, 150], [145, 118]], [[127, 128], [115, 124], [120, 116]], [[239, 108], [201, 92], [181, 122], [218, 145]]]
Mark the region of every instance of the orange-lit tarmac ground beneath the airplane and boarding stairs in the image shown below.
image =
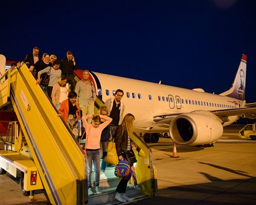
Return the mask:
[[[152, 149], [156, 167], [156, 197], [139, 204], [256, 204], [256, 140], [240, 139], [236, 127], [227, 128], [214, 147], [176, 145], [160, 138]], [[22, 195], [19, 181], [0, 175], [0, 204], [50, 204], [45, 193], [34, 202]]]

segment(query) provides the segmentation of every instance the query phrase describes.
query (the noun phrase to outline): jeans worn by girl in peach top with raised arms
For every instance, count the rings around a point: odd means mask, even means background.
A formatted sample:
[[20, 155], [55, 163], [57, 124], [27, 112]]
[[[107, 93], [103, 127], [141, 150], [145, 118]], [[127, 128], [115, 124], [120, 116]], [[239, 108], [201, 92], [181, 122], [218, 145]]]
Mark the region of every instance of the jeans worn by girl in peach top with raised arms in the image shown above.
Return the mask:
[[95, 186], [100, 184], [100, 150], [86, 150], [88, 188], [92, 188], [92, 161], [95, 169]]

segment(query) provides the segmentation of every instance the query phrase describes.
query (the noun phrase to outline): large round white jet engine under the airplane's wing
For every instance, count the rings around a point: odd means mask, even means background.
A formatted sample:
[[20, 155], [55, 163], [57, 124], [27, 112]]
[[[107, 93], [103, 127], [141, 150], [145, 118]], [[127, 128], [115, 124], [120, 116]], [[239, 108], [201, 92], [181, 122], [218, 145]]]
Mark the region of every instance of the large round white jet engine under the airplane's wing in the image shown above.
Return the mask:
[[170, 136], [179, 145], [203, 145], [216, 142], [223, 134], [220, 119], [211, 113], [185, 113], [174, 118]]

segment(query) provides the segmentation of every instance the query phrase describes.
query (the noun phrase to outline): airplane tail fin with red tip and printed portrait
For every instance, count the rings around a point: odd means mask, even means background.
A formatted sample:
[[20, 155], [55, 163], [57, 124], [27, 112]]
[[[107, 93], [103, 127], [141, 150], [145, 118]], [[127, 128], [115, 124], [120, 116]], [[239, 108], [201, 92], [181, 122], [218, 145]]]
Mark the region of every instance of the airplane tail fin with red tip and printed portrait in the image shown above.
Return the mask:
[[242, 100], [245, 99], [246, 60], [247, 56], [243, 54], [232, 87], [226, 92], [220, 93], [220, 95]]

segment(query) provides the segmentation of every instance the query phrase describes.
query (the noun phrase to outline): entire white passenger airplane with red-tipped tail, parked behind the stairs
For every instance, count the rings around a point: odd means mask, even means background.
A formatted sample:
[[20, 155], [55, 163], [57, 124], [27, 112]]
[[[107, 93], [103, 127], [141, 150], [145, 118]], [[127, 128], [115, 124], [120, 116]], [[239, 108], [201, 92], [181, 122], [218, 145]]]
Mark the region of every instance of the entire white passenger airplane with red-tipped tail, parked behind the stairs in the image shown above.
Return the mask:
[[98, 72], [90, 79], [103, 102], [124, 90], [124, 115], [135, 116], [135, 132], [144, 133], [145, 142], [158, 142], [159, 133], [169, 132], [176, 144], [207, 145], [222, 136], [224, 126], [256, 118], [256, 104], [245, 101], [246, 60], [243, 54], [231, 88], [219, 95]]

